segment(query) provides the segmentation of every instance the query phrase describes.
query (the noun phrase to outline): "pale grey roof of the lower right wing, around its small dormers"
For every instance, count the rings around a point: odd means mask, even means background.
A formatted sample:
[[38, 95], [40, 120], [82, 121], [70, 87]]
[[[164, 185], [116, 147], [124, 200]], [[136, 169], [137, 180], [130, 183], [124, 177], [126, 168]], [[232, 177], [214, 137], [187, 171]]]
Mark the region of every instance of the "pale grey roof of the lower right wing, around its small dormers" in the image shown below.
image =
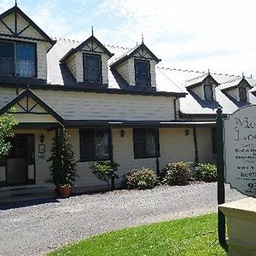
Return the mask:
[[[242, 79], [241, 76], [211, 73], [212, 78], [214, 78], [219, 85], [215, 89], [216, 101], [209, 101], [201, 100], [199, 96], [196, 96], [192, 90], [187, 88], [187, 81], [192, 81], [193, 79], [196, 81], [202, 81], [207, 77], [207, 72], [203, 73], [192, 70], [165, 67], [158, 67], [157, 69], [160, 69], [160, 71], [164, 73], [167, 78], [171, 79], [172, 83], [181, 87], [181, 90], [185, 88], [189, 92], [186, 97], [180, 99], [180, 111], [183, 115], [214, 115], [216, 114], [218, 107], [222, 108], [223, 113], [233, 113], [237, 108], [241, 108], [247, 104], [247, 102], [237, 102], [223, 90], [223, 86], [227, 88], [229, 86], [233, 86], [234, 84], [239, 84]], [[234, 81], [234, 83], [229, 81]], [[256, 80], [252, 78], [247, 78], [247, 81], [252, 86], [256, 85]], [[256, 104], [256, 97], [253, 96], [252, 91], [249, 92], [249, 102]]]

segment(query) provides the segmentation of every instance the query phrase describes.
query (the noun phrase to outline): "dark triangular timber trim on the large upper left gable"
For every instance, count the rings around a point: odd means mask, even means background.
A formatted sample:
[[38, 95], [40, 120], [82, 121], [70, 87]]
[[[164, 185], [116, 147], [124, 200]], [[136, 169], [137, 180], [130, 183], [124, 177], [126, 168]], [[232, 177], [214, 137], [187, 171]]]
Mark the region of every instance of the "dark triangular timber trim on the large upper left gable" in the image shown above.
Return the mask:
[[[8, 17], [9, 15], [12, 15], [12, 14], [15, 14], [15, 31], [13, 31], [4, 22], [4, 19], [6, 17]], [[26, 22], [28, 23], [28, 25], [25, 26], [20, 32], [18, 32], [17, 15], [20, 15], [20, 17], [22, 19], [26, 20]], [[0, 22], [3, 24], [3, 26], [5, 26], [9, 30], [9, 32], [11, 32], [11, 34], [1, 33], [0, 36], [9, 37], [9, 38], [22, 38], [22, 39], [32, 39], [32, 40], [36, 40], [36, 41], [44, 41], [44, 42], [48, 42], [52, 46], [56, 43], [55, 40], [49, 38], [49, 36], [39, 26], [37, 26], [36, 23], [34, 23], [25, 13], [23, 13], [22, 10], [16, 4], [15, 4], [15, 6], [13, 8], [7, 10], [2, 15], [0, 15]], [[20, 35], [22, 32], [25, 32], [26, 29], [29, 28], [30, 26], [32, 26], [32, 28], [34, 28], [42, 36], [42, 38], [44, 38], [44, 39], [28, 38], [28, 37], [23, 37], [23, 36]]]

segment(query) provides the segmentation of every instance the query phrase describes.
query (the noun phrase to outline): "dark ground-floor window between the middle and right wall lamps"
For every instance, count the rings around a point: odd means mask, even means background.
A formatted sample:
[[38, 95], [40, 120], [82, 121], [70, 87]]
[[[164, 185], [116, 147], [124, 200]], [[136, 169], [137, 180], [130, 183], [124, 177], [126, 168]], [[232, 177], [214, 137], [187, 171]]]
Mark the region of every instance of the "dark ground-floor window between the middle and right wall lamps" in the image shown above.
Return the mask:
[[135, 158], [159, 155], [158, 132], [154, 128], [133, 129], [133, 142]]

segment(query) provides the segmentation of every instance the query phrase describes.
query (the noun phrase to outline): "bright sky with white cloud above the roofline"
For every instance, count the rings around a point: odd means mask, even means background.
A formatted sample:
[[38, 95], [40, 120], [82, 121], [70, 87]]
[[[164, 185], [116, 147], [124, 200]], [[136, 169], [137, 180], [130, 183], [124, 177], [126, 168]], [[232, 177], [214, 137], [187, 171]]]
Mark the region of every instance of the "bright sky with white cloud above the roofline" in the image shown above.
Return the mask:
[[[52, 38], [134, 47], [142, 42], [160, 67], [256, 79], [255, 0], [17, 0]], [[0, 0], [0, 12], [15, 0]]]

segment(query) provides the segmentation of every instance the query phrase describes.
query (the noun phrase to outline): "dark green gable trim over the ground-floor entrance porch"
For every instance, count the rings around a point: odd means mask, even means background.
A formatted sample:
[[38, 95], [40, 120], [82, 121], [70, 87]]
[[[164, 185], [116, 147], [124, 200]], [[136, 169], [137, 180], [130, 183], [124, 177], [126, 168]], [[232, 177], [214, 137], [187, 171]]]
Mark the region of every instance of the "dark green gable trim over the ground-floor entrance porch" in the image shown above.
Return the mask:
[[[32, 107], [28, 106], [28, 99], [31, 98], [35, 104]], [[20, 101], [26, 99], [26, 106], [20, 105]], [[41, 100], [38, 96], [36, 96], [32, 90], [26, 89], [23, 90], [18, 96], [16, 96], [13, 100], [3, 106], [0, 109], [0, 115], [9, 111], [10, 108], [14, 107], [16, 104], [19, 105], [20, 109], [22, 109], [22, 113], [33, 113], [32, 110], [39, 105], [41, 108], [44, 108], [46, 113], [51, 114], [57, 121], [63, 123], [63, 119], [61, 116], [56, 113], [52, 108], [50, 108], [43, 100]], [[45, 114], [45, 113], [44, 113]]]

